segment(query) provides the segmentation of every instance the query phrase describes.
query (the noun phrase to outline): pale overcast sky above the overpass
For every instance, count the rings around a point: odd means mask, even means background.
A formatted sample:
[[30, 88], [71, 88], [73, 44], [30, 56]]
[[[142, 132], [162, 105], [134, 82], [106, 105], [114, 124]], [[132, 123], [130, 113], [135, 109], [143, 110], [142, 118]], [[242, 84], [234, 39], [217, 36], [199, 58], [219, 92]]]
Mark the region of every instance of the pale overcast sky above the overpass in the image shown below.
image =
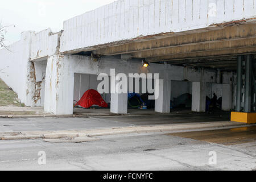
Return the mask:
[[63, 29], [63, 21], [107, 5], [115, 0], [7, 0], [1, 1], [0, 21], [7, 28], [7, 42], [20, 39], [20, 32], [41, 31], [51, 28], [53, 32]]

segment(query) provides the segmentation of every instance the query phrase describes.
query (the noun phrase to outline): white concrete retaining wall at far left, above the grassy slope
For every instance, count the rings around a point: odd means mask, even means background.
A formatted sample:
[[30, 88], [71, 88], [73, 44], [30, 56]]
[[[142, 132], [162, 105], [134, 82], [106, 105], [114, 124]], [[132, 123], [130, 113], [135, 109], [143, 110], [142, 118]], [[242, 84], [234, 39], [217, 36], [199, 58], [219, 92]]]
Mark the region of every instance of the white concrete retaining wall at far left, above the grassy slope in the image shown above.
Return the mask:
[[0, 49], [0, 78], [9, 85], [24, 104], [31, 106], [30, 90], [34, 73], [30, 60], [30, 37], [32, 32], [23, 32], [18, 42], [9, 46], [9, 50]]

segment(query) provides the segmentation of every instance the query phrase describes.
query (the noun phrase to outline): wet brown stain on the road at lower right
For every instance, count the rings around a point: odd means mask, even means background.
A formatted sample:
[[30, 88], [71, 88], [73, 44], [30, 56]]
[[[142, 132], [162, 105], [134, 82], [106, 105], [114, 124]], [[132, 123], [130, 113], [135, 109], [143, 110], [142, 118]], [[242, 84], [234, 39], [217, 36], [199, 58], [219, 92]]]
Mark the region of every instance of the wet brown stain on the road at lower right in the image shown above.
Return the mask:
[[167, 134], [175, 137], [191, 138], [195, 140], [234, 145], [241, 143], [256, 142], [256, 126], [239, 127], [234, 129], [191, 131], [183, 133]]

